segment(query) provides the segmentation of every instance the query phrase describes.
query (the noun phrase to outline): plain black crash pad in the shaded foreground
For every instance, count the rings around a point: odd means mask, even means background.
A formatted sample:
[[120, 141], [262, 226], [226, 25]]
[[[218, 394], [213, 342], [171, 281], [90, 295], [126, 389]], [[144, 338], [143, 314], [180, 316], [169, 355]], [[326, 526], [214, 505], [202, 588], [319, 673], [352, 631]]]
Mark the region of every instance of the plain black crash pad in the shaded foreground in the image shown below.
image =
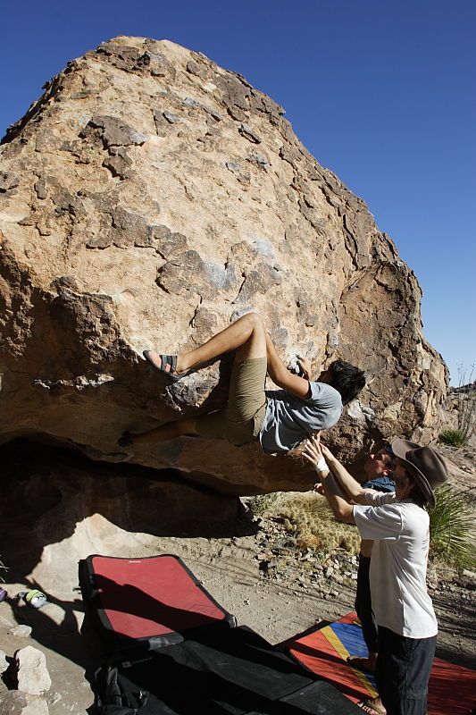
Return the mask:
[[96, 671], [100, 715], [358, 715], [352, 702], [246, 628], [208, 631]]

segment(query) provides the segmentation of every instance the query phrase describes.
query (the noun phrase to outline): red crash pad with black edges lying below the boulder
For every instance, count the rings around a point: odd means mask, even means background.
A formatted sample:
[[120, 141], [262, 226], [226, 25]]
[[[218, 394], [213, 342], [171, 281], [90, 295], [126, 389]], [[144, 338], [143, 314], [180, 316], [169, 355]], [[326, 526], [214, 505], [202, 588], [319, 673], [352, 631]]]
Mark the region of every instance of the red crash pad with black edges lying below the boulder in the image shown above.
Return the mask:
[[118, 559], [97, 554], [79, 562], [83, 601], [104, 644], [180, 643], [210, 627], [234, 627], [177, 556]]

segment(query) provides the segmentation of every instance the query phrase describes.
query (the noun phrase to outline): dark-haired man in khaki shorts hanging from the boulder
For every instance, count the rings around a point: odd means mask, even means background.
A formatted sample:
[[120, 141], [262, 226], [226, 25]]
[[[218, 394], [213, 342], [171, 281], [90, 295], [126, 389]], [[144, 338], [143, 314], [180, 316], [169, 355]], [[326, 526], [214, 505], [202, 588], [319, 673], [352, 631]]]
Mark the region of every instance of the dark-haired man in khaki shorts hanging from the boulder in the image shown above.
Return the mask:
[[[333, 362], [312, 381], [310, 361], [301, 357], [304, 376], [292, 374], [278, 357], [257, 313], [243, 315], [191, 352], [171, 356], [145, 350], [144, 356], [157, 372], [175, 383], [230, 350], [235, 350], [235, 359], [226, 407], [146, 433], [124, 433], [121, 447], [188, 434], [228, 440], [237, 446], [259, 440], [267, 454], [287, 452], [309, 434], [335, 425], [342, 405], [353, 400], [365, 384], [363, 372], [342, 360]], [[266, 372], [280, 390], [265, 391]]]

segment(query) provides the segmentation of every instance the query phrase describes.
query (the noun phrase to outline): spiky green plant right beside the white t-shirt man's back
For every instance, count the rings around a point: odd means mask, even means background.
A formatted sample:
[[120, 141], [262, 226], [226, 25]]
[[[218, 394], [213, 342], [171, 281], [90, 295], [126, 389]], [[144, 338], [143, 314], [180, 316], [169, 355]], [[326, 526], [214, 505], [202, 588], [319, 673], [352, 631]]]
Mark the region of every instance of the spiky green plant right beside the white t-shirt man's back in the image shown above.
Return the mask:
[[449, 566], [474, 568], [474, 512], [464, 494], [450, 484], [435, 491], [436, 504], [430, 513], [430, 555]]

